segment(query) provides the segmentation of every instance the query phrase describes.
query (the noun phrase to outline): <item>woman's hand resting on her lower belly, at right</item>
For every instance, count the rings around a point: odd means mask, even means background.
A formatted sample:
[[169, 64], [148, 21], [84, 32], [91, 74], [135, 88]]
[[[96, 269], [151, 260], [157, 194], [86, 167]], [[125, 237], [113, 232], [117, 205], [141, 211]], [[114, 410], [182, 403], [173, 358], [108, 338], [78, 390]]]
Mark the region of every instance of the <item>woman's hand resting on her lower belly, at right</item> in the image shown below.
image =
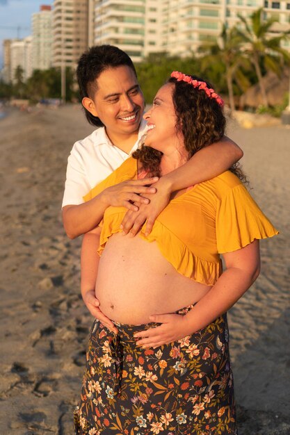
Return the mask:
[[181, 314], [159, 314], [150, 315], [150, 321], [161, 323], [158, 327], [140, 331], [134, 334], [135, 338], [140, 338], [136, 342], [138, 346], [144, 348], [167, 345], [172, 341], [180, 340], [192, 334], [190, 325], [185, 315]]

